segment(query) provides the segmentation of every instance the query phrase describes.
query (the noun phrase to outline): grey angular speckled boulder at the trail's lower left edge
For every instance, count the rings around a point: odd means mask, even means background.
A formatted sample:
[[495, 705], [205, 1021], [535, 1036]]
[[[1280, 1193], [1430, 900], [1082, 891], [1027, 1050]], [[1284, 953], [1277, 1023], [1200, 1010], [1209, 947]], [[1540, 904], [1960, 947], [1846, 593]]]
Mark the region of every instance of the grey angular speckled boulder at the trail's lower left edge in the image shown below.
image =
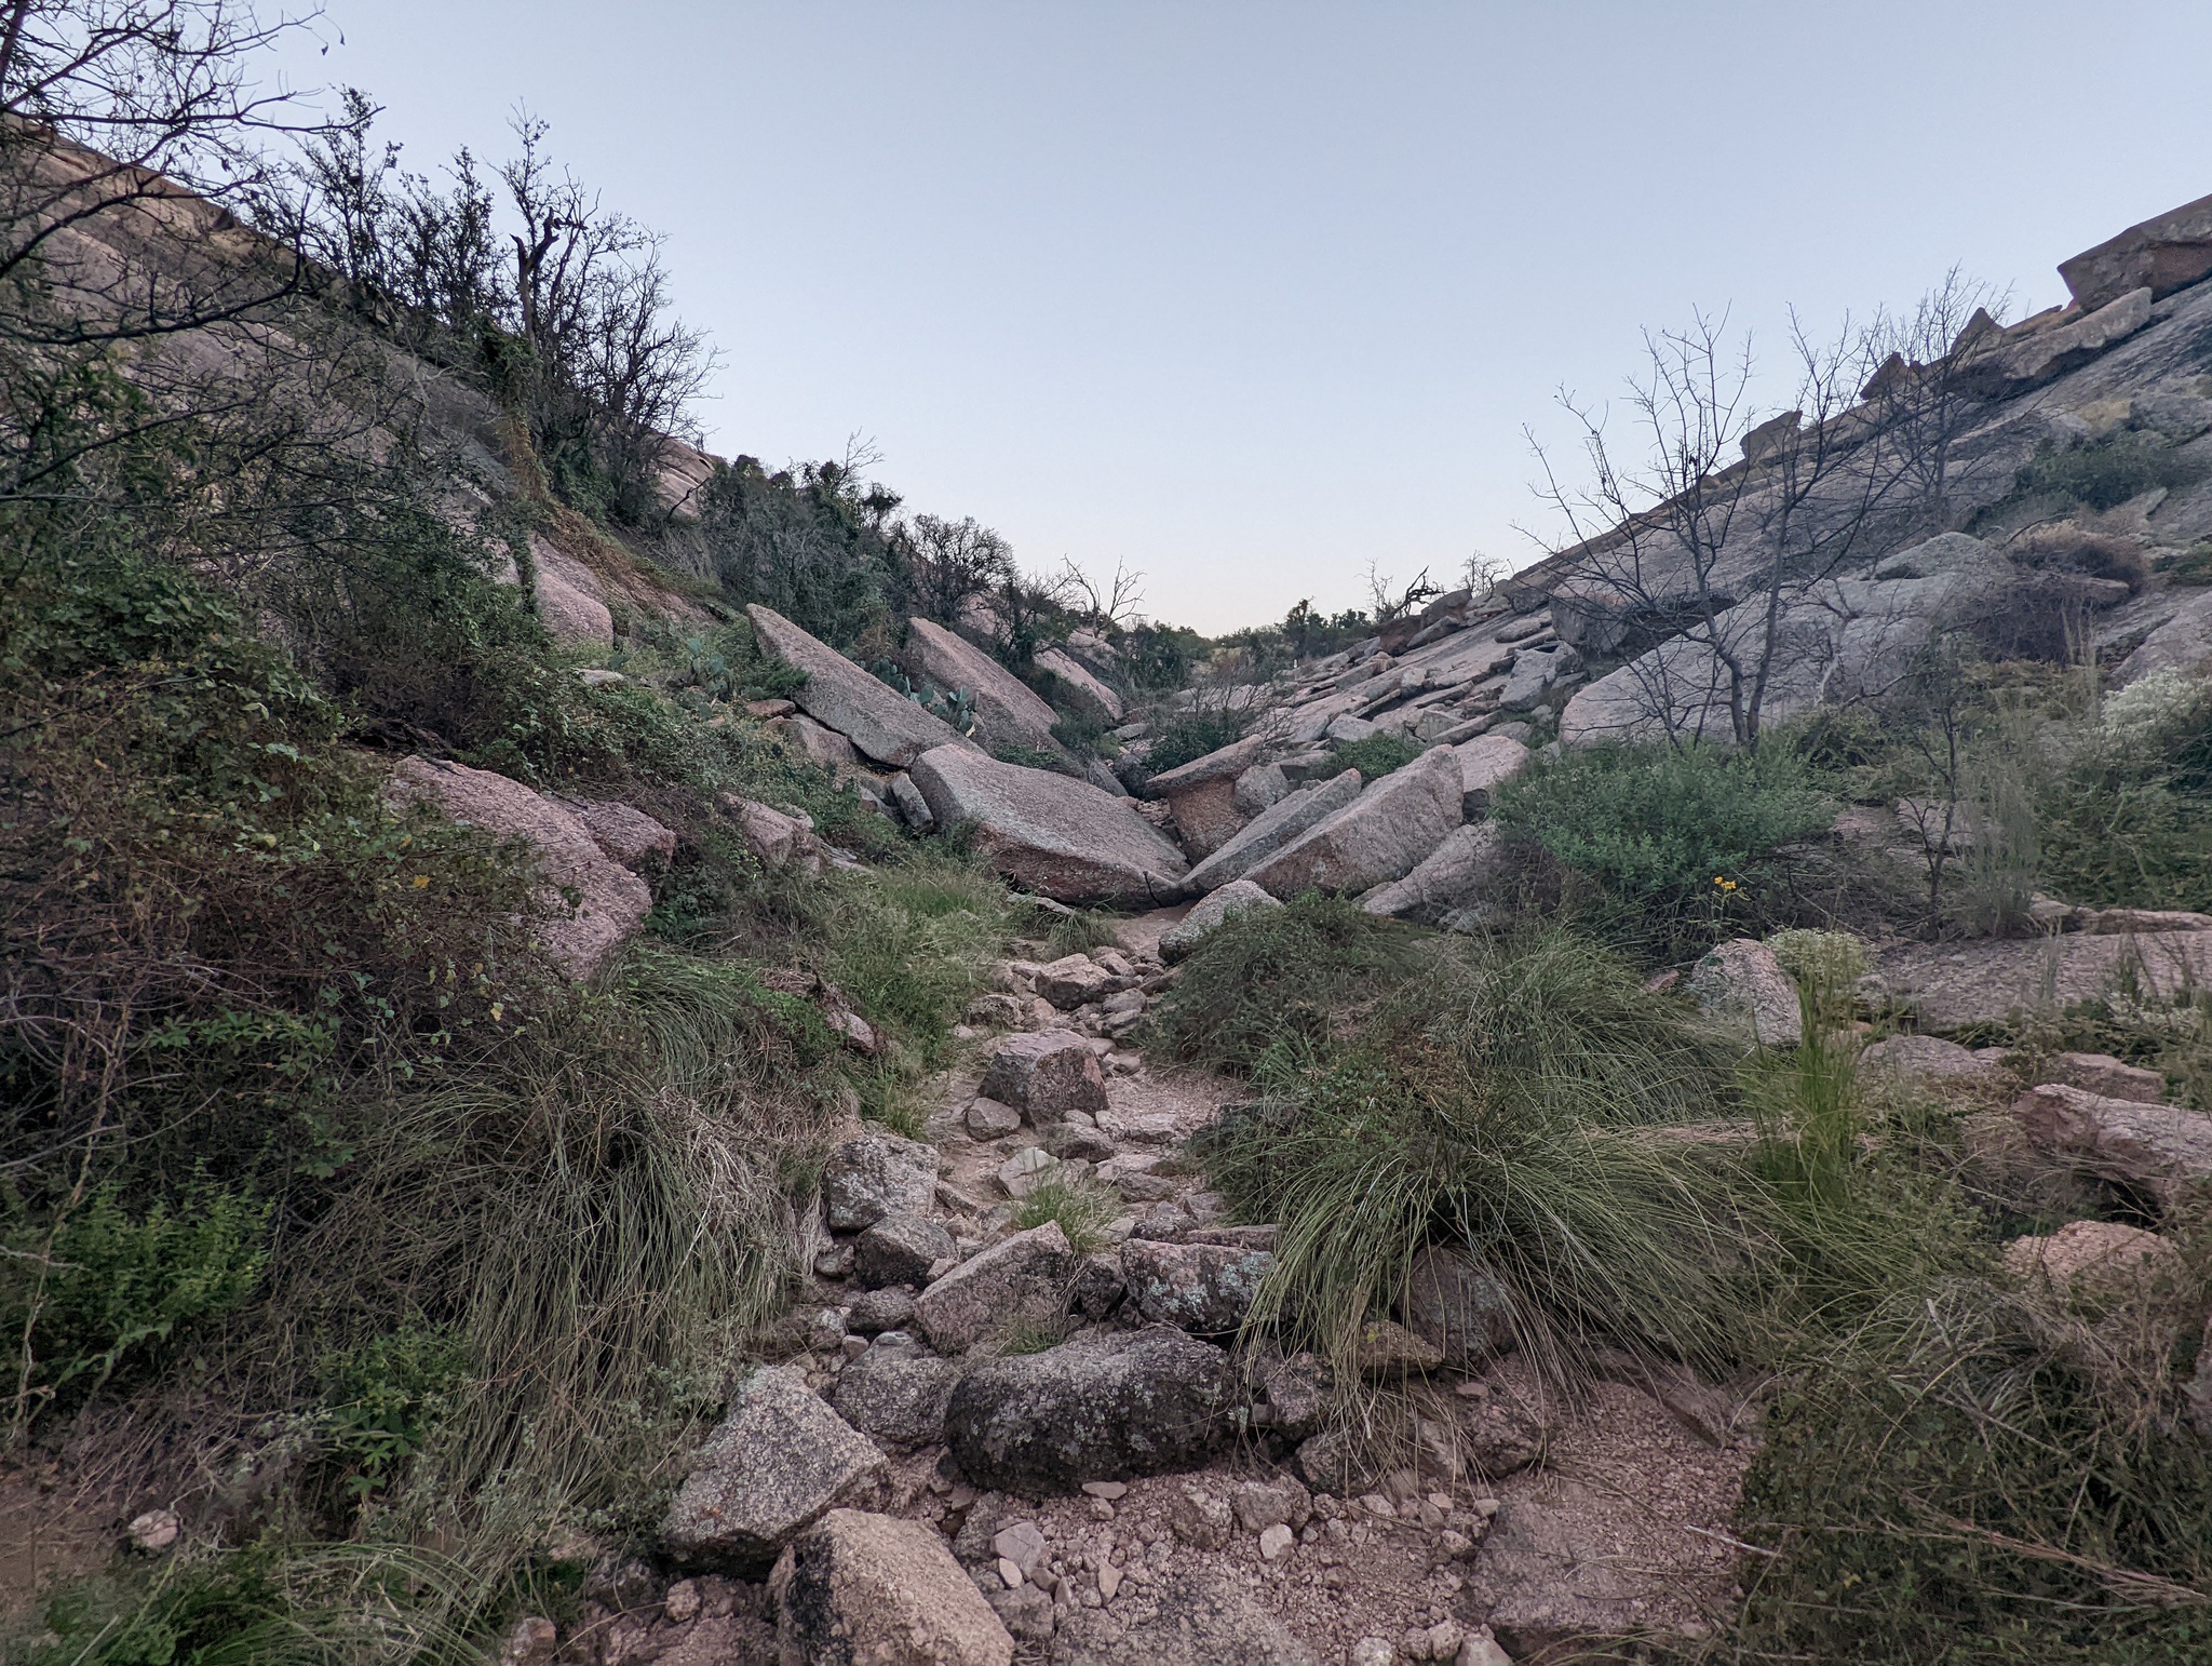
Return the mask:
[[763, 1365], [692, 1458], [661, 1520], [686, 1562], [754, 1578], [776, 1551], [885, 1469], [883, 1454], [783, 1365]]

